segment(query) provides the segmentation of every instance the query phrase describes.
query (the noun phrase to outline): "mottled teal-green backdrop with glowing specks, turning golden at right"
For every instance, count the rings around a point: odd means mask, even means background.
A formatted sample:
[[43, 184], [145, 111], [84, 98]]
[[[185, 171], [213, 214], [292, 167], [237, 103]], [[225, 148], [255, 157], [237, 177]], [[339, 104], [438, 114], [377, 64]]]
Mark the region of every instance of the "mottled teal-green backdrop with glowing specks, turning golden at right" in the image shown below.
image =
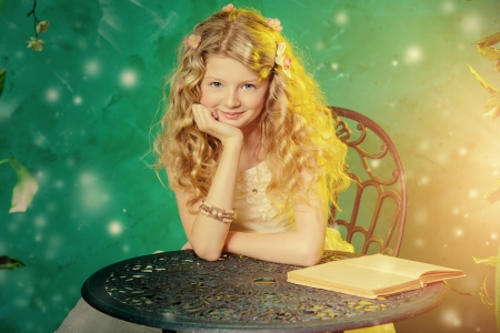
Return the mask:
[[[476, 292], [488, 268], [472, 256], [500, 243], [500, 202], [482, 198], [500, 179], [500, 121], [481, 117], [488, 92], [467, 63], [500, 88], [473, 46], [500, 31], [500, 1], [233, 3], [279, 18], [329, 103], [388, 131], [408, 172], [400, 256], [461, 269], [468, 276], [451, 283]], [[148, 167], [150, 127], [178, 44], [224, 4], [40, 0], [37, 16], [51, 23], [34, 52], [32, 1], [0, 1], [0, 159], [12, 153], [40, 184], [27, 212], [9, 214], [16, 175], [0, 165], [0, 255], [27, 265], [0, 270], [1, 332], [52, 332], [91, 273], [183, 244], [174, 198]], [[450, 293], [396, 327], [493, 332], [494, 317], [479, 296]]]

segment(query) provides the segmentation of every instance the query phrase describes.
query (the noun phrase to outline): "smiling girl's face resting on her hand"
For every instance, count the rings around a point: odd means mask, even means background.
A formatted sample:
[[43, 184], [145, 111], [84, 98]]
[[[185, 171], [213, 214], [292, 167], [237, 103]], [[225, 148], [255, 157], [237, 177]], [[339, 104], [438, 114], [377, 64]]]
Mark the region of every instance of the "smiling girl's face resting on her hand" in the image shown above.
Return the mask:
[[243, 135], [251, 133], [266, 104], [269, 79], [259, 81], [256, 72], [224, 56], [208, 58], [206, 67], [200, 104], [214, 109], [219, 121], [241, 129]]

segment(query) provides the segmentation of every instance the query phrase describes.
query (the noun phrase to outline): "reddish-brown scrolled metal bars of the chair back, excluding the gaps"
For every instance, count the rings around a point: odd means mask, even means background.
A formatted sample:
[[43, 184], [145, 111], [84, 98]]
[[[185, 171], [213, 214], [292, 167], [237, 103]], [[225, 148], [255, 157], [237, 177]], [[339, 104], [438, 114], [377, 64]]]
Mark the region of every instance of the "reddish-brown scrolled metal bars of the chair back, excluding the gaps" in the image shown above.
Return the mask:
[[[369, 119], [366, 115], [362, 115], [356, 111], [344, 109], [344, 108], [337, 108], [337, 107], [330, 107], [330, 110], [332, 112], [333, 119], [337, 120], [337, 137], [348, 145], [349, 149], [354, 150], [362, 163], [362, 167], [367, 174], [369, 175], [369, 179], [366, 181], [361, 181], [360, 178], [353, 173], [350, 173], [348, 171], [349, 176], [353, 180], [353, 183], [357, 185], [357, 192], [353, 203], [353, 211], [350, 218], [350, 221], [336, 219], [336, 208], [332, 205], [331, 209], [331, 216], [328, 221], [329, 226], [336, 228], [337, 225], [343, 225], [347, 229], [347, 236], [346, 240], [348, 242], [352, 241], [352, 236], [356, 233], [361, 233], [364, 235], [364, 244], [361, 249], [361, 253], [367, 254], [368, 249], [370, 248], [370, 244], [378, 243], [380, 245], [380, 253], [398, 256], [401, 243], [402, 243], [402, 236], [404, 232], [404, 223], [407, 218], [407, 184], [406, 184], [406, 176], [404, 176], [404, 167], [402, 164], [401, 158], [399, 155], [398, 149], [396, 148], [394, 143], [390, 139], [389, 134], [373, 120]], [[347, 122], [344, 119], [351, 119], [357, 124], [357, 130], [360, 132], [358, 138], [351, 139], [351, 129], [349, 129]], [[364, 141], [368, 130], [373, 132], [376, 135], [380, 138], [382, 141], [382, 147], [380, 152], [372, 153], [363, 150], [360, 144]], [[377, 160], [382, 159], [387, 155], [387, 153], [390, 153], [394, 163], [396, 163], [396, 170], [392, 172], [392, 179], [382, 179], [376, 175], [370, 168], [368, 160]], [[400, 186], [400, 193], [389, 189], [384, 189], [384, 186], [390, 186], [393, 184], [397, 184], [399, 182]], [[369, 229], [366, 229], [362, 225], [357, 225], [357, 219], [359, 213], [359, 208], [361, 204], [361, 198], [364, 189], [372, 186], [377, 189], [378, 191], [378, 201], [374, 208], [374, 212], [370, 222]], [[392, 222], [388, 232], [388, 235], [386, 239], [382, 239], [378, 235], [374, 235], [376, 226], [378, 223], [378, 219], [381, 212], [381, 209], [383, 206], [384, 200], [388, 198], [392, 198], [397, 204], [394, 216], [392, 218]], [[393, 240], [396, 233], [396, 240]], [[394, 242], [393, 248], [390, 248], [391, 242]]]

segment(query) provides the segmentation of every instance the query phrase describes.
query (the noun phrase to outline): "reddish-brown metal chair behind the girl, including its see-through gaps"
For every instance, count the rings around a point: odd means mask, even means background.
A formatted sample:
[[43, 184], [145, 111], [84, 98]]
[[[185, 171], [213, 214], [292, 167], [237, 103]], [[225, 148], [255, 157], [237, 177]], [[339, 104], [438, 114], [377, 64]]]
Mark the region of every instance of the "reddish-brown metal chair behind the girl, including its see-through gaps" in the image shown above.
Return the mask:
[[[373, 120], [343, 108], [330, 110], [337, 135], [348, 145], [348, 174], [353, 181], [340, 193], [341, 211], [332, 206], [328, 224], [344, 233], [356, 252], [398, 256], [407, 216], [404, 168], [398, 150]], [[350, 125], [358, 132], [352, 138]]]

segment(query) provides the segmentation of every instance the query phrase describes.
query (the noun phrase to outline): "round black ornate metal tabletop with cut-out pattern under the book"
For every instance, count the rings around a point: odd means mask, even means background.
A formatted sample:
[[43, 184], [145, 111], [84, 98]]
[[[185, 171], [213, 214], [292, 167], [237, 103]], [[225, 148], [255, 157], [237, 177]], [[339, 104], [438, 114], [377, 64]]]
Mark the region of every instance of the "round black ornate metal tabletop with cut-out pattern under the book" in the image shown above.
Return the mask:
[[[357, 255], [326, 251], [321, 263]], [[434, 283], [368, 300], [287, 282], [287, 272], [297, 269], [229, 253], [208, 262], [193, 251], [173, 251], [109, 265], [81, 292], [103, 313], [164, 332], [343, 331], [421, 314], [447, 293]]]

